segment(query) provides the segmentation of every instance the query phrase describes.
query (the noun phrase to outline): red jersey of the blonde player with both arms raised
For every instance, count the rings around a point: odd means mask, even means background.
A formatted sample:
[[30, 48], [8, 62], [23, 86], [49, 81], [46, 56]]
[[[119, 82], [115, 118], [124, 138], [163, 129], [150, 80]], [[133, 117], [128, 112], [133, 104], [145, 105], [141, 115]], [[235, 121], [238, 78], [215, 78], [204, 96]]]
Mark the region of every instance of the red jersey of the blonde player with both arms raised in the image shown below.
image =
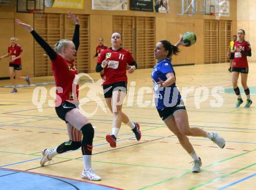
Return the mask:
[[[52, 61], [52, 71], [54, 72], [54, 78], [56, 87], [61, 87], [63, 92], [56, 91], [56, 95], [61, 97], [61, 103], [65, 101], [73, 101], [78, 103], [79, 85], [74, 84], [74, 77], [78, 74], [76, 67], [74, 67], [73, 61], [69, 62], [61, 55], [56, 54], [56, 59]], [[74, 91], [73, 89], [76, 89]], [[74, 94], [76, 92], [76, 94]], [[56, 99], [56, 101], [58, 101]], [[58, 102], [56, 102], [58, 103]]]

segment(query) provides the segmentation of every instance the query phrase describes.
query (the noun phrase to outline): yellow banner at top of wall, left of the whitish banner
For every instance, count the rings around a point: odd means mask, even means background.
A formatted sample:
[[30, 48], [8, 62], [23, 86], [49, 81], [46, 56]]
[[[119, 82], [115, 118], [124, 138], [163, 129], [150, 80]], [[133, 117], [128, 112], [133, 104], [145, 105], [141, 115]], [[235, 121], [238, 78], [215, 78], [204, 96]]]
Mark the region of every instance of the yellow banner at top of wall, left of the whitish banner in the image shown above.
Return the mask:
[[55, 0], [53, 8], [83, 9], [84, 0]]

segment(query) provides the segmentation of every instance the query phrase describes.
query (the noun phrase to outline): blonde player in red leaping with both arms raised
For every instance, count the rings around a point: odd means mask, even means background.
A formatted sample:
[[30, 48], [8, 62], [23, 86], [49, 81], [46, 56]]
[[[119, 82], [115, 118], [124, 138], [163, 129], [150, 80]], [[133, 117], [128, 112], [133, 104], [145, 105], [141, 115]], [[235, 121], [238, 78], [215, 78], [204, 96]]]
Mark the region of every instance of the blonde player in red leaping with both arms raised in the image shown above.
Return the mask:
[[[73, 62], [76, 58], [77, 49], [79, 48], [79, 18], [72, 15], [70, 12], [68, 16], [75, 22], [73, 39], [72, 41], [60, 40], [55, 44], [55, 50], [52, 49], [29, 24], [16, 20], [17, 24], [30, 31], [35, 40], [42, 46], [51, 59], [56, 83], [55, 110], [59, 118], [66, 121], [67, 131], [69, 133], [69, 141], [63, 142], [63, 144], [54, 149], [43, 150], [40, 164], [44, 166], [46, 162], [57, 154], [69, 150], [76, 150], [81, 147], [84, 159], [84, 169], [81, 177], [87, 180], [99, 181], [101, 177], [95, 174], [91, 168], [94, 128], [90, 121], [77, 109], [77, 105], [79, 104], [79, 86], [73, 83], [76, 74], [78, 74]], [[81, 139], [81, 133], [83, 134], [83, 139]]]

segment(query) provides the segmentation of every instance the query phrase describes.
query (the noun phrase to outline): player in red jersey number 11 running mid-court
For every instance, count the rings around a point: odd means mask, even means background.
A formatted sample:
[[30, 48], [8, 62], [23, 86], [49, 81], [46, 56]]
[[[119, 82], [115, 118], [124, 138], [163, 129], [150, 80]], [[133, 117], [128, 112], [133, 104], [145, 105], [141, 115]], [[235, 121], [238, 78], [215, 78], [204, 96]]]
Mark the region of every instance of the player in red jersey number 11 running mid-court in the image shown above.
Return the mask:
[[96, 71], [104, 71], [103, 89], [106, 104], [113, 113], [112, 134], [106, 135], [106, 141], [112, 148], [116, 147], [116, 139], [122, 122], [127, 124], [134, 132], [137, 141], [141, 139], [140, 125], [133, 123], [129, 117], [122, 112], [122, 103], [127, 91], [127, 64], [128, 73], [133, 73], [137, 68], [137, 63], [131, 53], [122, 48], [122, 35], [118, 32], [111, 37], [112, 47], [106, 49], [98, 58]]

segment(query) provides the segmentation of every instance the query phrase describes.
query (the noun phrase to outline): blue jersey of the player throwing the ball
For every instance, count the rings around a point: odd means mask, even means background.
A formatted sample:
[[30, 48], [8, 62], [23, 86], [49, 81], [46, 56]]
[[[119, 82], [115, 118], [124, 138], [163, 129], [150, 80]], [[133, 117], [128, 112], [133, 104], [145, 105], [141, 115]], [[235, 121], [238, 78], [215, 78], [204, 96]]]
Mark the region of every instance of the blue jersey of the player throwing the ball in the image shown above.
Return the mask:
[[165, 76], [167, 73], [173, 73], [175, 75], [175, 71], [173, 70], [169, 58], [158, 62], [157, 65], [154, 66], [151, 74], [154, 85], [155, 106], [158, 110], [164, 109], [165, 107], [174, 107], [182, 98], [175, 83], [170, 85], [170, 87], [160, 87], [157, 84], [159, 81], [158, 78], [161, 78], [163, 81], [167, 80], [167, 77]]

